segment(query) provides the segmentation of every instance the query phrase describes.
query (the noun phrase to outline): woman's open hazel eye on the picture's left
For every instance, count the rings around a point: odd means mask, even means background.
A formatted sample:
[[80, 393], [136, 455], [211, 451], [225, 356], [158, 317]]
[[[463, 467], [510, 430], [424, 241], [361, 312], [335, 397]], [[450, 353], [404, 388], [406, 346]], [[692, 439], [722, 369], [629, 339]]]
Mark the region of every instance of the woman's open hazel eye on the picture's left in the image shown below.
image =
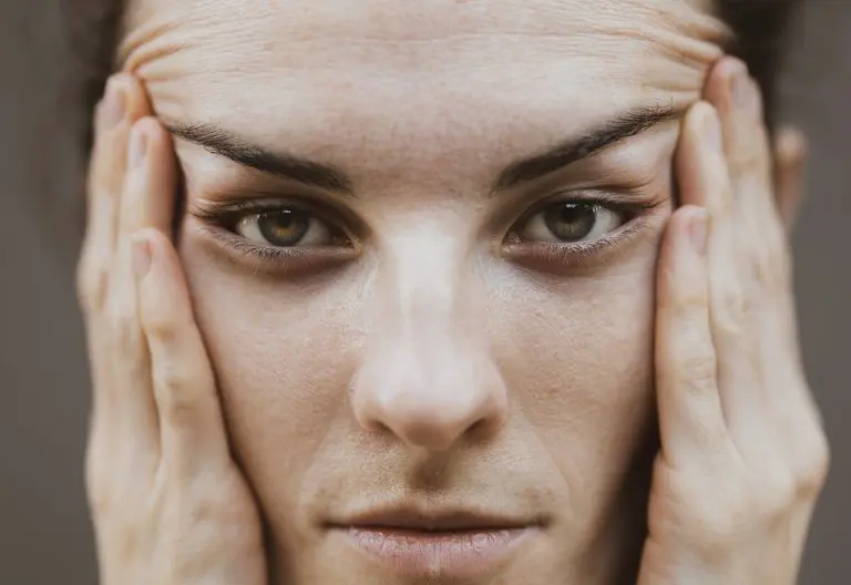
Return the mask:
[[279, 248], [315, 248], [337, 243], [328, 224], [293, 207], [245, 215], [236, 222], [234, 232], [253, 244]]

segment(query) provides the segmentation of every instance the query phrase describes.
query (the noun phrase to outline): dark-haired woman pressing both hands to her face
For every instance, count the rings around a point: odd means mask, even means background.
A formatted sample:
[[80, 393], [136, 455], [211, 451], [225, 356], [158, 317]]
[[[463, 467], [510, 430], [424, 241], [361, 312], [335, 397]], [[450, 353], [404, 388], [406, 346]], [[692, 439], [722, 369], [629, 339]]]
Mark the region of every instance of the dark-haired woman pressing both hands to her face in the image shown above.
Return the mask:
[[791, 6], [739, 4], [113, 4], [101, 582], [793, 583]]

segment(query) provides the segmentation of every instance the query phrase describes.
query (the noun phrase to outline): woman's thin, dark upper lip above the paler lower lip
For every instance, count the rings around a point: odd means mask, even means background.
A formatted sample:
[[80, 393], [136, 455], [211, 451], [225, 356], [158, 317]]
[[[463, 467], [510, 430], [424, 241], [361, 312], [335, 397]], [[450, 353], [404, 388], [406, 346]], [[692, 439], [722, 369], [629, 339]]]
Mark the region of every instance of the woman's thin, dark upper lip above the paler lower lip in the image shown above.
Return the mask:
[[363, 511], [347, 516], [342, 522], [331, 523], [332, 526], [412, 531], [498, 531], [522, 528], [537, 524], [541, 524], [541, 522], [469, 509], [422, 510], [410, 506]]

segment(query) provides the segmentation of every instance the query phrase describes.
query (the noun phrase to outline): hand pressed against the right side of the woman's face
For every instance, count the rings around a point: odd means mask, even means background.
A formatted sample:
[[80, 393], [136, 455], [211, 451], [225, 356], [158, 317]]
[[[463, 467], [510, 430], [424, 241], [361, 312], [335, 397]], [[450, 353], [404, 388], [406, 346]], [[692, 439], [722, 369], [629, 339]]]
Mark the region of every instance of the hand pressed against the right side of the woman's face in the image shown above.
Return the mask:
[[772, 181], [761, 98], [740, 61], [717, 64], [706, 99], [685, 121], [683, 207], [658, 273], [662, 450], [638, 583], [792, 584], [829, 460], [783, 227], [803, 147], [782, 138]]

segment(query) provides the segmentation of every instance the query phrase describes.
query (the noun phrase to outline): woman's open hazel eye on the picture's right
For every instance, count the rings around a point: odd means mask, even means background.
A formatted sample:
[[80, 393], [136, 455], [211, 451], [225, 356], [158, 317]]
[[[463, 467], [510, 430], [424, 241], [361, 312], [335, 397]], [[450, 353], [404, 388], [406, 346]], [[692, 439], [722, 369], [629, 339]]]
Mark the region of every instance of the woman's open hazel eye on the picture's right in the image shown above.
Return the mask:
[[521, 242], [595, 240], [626, 223], [626, 214], [591, 202], [560, 202], [527, 217], [516, 229]]

